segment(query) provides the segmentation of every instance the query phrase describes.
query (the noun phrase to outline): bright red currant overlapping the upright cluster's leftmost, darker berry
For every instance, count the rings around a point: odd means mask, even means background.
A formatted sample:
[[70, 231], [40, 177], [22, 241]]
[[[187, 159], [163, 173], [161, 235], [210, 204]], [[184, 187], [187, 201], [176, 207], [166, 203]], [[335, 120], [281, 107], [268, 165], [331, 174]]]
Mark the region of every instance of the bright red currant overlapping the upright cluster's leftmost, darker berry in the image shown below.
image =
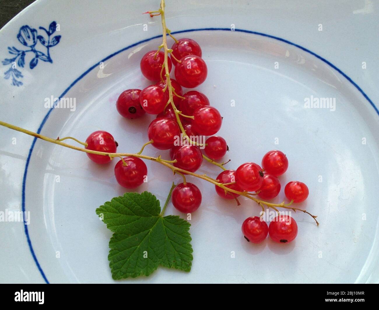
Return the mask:
[[158, 85], [147, 86], [139, 94], [139, 102], [146, 113], [159, 114], [168, 102], [168, 92]]

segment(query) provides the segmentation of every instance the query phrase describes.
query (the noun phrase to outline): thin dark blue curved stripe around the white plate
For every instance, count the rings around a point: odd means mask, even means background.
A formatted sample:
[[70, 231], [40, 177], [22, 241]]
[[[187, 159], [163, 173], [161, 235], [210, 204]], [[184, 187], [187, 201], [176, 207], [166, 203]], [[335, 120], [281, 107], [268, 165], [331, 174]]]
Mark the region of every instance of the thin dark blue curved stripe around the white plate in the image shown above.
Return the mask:
[[[176, 33], [186, 33], [186, 32], [194, 32], [194, 31], [231, 31], [230, 28], [199, 28], [199, 29], [187, 29], [187, 30], [180, 30], [180, 31], [175, 31], [175, 32], [172, 32], [172, 34], [176, 34]], [[332, 64], [331, 62], [327, 61], [325, 58], [317, 55], [316, 53], [313, 53], [313, 51], [310, 51], [308, 50], [307, 48], [305, 47], [302, 47], [301, 45], [298, 45], [298, 44], [295, 44], [291, 41], [288, 41], [286, 39], [282, 39], [280, 37], [276, 37], [276, 36], [271, 36], [269, 34], [265, 34], [265, 33], [261, 33], [261, 32], [256, 32], [256, 31], [250, 31], [250, 30], [244, 30], [244, 29], [235, 29], [235, 31], [237, 32], [243, 32], [243, 33], [250, 33], [250, 34], [256, 34], [258, 36], [263, 36], [263, 37], [269, 37], [271, 39], [275, 39], [275, 40], [278, 40], [278, 41], [281, 41], [281, 42], [284, 42], [284, 43], [287, 43], [287, 44], [290, 44], [290, 45], [293, 45], [295, 47], [298, 47], [300, 48], [301, 50], [315, 56], [316, 58], [320, 59], [321, 61], [325, 62], [327, 65], [329, 65], [330, 67], [332, 67], [334, 70], [336, 70], [338, 73], [340, 73], [341, 75], [343, 75], [357, 90], [359, 90], [359, 92], [363, 95], [363, 97], [366, 98], [366, 100], [371, 104], [371, 106], [374, 108], [374, 110], [376, 111], [376, 113], [379, 115], [379, 110], [377, 109], [377, 107], [375, 106], [375, 104], [373, 103], [373, 101], [371, 101], [370, 98], [368, 98], [368, 96], [365, 94], [365, 92], [363, 92], [363, 90], [351, 79], [349, 78], [349, 76], [347, 76], [345, 73], [343, 73], [340, 69], [338, 69], [334, 64]], [[72, 82], [70, 84], [69, 87], [66, 88], [66, 90], [64, 90], [64, 92], [60, 95], [59, 98], [62, 98], [64, 95], [66, 95], [66, 93], [78, 82], [80, 81], [85, 75], [87, 75], [87, 73], [89, 73], [92, 69], [94, 69], [95, 67], [97, 67], [99, 65], [99, 62], [104, 62], [110, 58], [112, 58], [113, 56], [116, 56], [117, 54], [125, 51], [125, 50], [128, 50], [129, 48], [132, 48], [132, 47], [135, 47], [136, 45], [139, 45], [141, 43], [144, 43], [144, 42], [149, 42], [153, 39], [158, 39], [162, 37], [162, 35], [159, 35], [159, 36], [155, 36], [155, 37], [150, 37], [149, 39], [145, 39], [145, 40], [142, 40], [142, 41], [139, 41], [137, 43], [134, 43], [132, 45], [129, 45], [127, 47], [124, 47], [122, 48], [121, 50], [119, 51], [116, 51], [114, 52], [113, 54], [111, 55], [108, 55], [106, 56], [104, 59], [96, 62], [96, 64], [94, 64], [92, 67], [90, 67], [88, 70], [86, 70], [83, 74], [81, 74], [77, 79], [75, 79], [74, 82]], [[45, 115], [44, 119], [42, 120], [42, 123], [41, 125], [39, 125], [39, 128], [38, 128], [38, 131], [37, 133], [39, 134], [42, 130], [42, 127], [45, 125], [46, 123], [46, 120], [47, 118], [49, 118], [49, 115], [50, 113], [53, 111], [54, 107], [50, 108], [49, 111], [47, 112], [47, 114]], [[24, 171], [24, 174], [23, 174], [23, 180], [22, 180], [22, 211], [25, 211], [25, 185], [26, 185], [26, 178], [27, 178], [27, 173], [28, 173], [28, 167], [29, 167], [29, 162], [30, 162], [30, 157], [31, 157], [31, 153], [33, 152], [33, 148], [34, 148], [34, 145], [36, 144], [36, 140], [37, 138], [34, 137], [33, 139], [33, 142], [31, 143], [31, 147], [30, 147], [30, 150], [29, 150], [29, 154], [28, 154], [28, 158], [26, 160], [26, 164], [25, 164], [25, 171]], [[25, 227], [25, 235], [26, 235], [26, 238], [27, 238], [27, 241], [28, 241], [28, 245], [29, 245], [29, 249], [30, 249], [30, 252], [31, 252], [31, 255], [34, 259], [34, 262], [36, 263], [36, 266], [39, 270], [39, 272], [41, 273], [41, 276], [43, 277], [43, 279], [45, 280], [45, 282], [47, 284], [49, 284], [49, 280], [47, 280], [47, 277], [44, 273], [44, 271], [42, 270], [41, 268], [41, 265], [39, 264], [38, 262], [38, 259], [37, 259], [37, 256], [36, 254], [34, 253], [34, 250], [33, 250], [33, 246], [31, 244], [31, 240], [30, 240], [30, 236], [29, 236], [29, 232], [28, 232], [28, 226], [25, 224], [25, 221], [24, 221], [24, 227]]]

